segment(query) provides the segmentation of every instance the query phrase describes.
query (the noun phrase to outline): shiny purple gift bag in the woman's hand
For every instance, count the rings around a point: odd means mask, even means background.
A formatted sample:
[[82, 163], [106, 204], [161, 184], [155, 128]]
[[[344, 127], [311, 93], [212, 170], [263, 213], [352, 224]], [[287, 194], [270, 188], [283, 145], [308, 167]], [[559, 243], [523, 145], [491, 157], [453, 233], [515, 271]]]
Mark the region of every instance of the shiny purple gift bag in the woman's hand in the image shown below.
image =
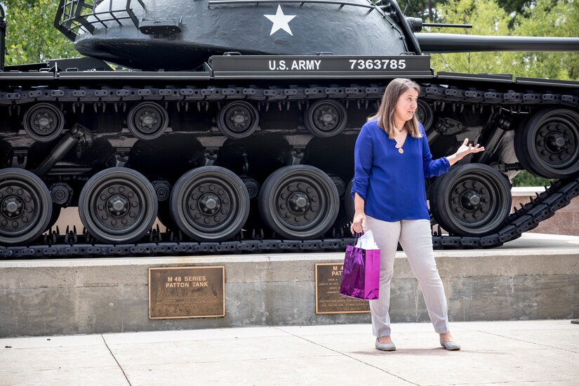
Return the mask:
[[380, 250], [347, 246], [340, 295], [364, 300], [378, 299]]

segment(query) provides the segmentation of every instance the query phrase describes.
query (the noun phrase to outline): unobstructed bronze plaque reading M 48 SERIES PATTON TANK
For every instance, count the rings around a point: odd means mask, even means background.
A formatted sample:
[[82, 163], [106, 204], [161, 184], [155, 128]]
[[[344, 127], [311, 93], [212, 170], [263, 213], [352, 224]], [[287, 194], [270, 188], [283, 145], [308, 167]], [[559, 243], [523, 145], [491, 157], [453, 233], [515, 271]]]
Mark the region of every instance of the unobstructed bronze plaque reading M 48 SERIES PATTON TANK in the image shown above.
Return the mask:
[[225, 317], [225, 267], [149, 268], [149, 319]]

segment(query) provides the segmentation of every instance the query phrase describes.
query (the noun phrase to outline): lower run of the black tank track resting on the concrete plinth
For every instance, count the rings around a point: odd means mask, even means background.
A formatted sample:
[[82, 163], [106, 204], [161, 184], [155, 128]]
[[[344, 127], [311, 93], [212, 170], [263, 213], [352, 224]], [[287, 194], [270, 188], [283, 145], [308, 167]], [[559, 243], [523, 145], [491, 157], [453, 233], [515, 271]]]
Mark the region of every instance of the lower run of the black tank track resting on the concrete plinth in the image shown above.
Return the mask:
[[[579, 195], [579, 178], [558, 180], [545, 192], [538, 194], [528, 204], [516, 209], [509, 216], [507, 224], [497, 233], [485, 237], [444, 236], [434, 232], [432, 244], [434, 249], [444, 248], [491, 248], [512, 241], [538, 226], [539, 222], [552, 217], [554, 213], [567, 206], [573, 197]], [[91, 244], [90, 237], [69, 232], [66, 235], [44, 235], [44, 245], [36, 246], [0, 246], [1, 258], [51, 258], [62, 256], [110, 256], [110, 255], [174, 255], [174, 254], [222, 254], [222, 253], [281, 253], [281, 252], [330, 252], [343, 251], [354, 243], [351, 237], [320, 240], [274, 240], [250, 239], [224, 241], [220, 243], [195, 243], [160, 241], [162, 235], [156, 231], [150, 234], [147, 242], [138, 244]], [[79, 241], [84, 241], [79, 243]]]

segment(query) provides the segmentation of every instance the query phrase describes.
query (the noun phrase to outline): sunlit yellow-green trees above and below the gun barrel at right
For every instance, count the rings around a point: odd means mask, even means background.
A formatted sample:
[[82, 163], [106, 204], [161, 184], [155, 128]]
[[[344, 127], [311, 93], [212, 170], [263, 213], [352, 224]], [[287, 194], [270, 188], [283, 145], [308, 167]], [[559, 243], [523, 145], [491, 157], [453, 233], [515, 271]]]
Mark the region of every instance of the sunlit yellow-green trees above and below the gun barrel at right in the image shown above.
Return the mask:
[[[577, 36], [579, 2], [536, 0], [514, 19], [495, 0], [451, 0], [439, 4], [445, 22], [468, 23], [467, 34], [504, 36]], [[449, 33], [457, 33], [448, 29]], [[460, 32], [459, 32], [460, 33]], [[438, 71], [512, 73], [516, 76], [579, 79], [578, 53], [451, 53], [432, 55]]]

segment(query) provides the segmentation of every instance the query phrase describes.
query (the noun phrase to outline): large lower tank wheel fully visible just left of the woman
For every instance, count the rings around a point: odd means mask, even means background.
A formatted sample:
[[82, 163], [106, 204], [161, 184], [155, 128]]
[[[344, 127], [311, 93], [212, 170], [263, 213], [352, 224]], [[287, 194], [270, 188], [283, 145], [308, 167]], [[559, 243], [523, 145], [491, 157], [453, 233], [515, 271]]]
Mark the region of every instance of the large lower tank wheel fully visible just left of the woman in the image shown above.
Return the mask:
[[307, 165], [286, 166], [265, 180], [259, 196], [261, 218], [287, 239], [314, 239], [330, 229], [340, 197], [326, 173]]

